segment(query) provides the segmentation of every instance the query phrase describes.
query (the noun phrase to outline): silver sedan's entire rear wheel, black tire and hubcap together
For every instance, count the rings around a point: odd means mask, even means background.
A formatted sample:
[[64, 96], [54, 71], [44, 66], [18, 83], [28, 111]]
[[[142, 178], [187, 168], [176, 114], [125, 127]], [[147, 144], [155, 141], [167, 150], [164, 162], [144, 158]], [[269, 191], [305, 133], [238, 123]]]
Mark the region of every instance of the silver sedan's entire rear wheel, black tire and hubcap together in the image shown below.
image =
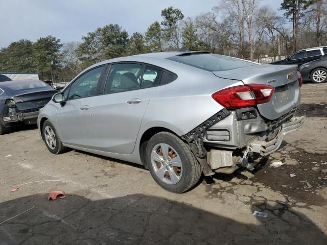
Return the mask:
[[157, 133], [149, 140], [146, 161], [157, 184], [171, 192], [185, 192], [201, 177], [201, 166], [189, 145], [169, 132]]

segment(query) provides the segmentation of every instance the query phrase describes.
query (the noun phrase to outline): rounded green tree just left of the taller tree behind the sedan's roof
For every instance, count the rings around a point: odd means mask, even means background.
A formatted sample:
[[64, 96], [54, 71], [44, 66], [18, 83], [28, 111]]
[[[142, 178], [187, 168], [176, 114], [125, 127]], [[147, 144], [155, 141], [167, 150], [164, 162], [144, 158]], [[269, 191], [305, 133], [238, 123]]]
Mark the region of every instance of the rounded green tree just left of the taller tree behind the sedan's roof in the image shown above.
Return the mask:
[[158, 21], [154, 21], [145, 34], [146, 52], [161, 52], [161, 28]]

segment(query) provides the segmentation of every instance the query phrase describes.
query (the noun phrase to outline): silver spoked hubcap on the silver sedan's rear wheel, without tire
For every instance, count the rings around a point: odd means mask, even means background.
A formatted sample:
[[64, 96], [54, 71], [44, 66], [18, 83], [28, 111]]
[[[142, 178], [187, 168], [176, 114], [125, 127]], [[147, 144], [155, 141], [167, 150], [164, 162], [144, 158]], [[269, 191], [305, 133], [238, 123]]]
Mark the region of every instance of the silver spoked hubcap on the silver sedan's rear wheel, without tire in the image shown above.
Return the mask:
[[183, 166], [178, 153], [169, 144], [160, 143], [151, 152], [154, 173], [166, 184], [178, 183], [183, 174]]

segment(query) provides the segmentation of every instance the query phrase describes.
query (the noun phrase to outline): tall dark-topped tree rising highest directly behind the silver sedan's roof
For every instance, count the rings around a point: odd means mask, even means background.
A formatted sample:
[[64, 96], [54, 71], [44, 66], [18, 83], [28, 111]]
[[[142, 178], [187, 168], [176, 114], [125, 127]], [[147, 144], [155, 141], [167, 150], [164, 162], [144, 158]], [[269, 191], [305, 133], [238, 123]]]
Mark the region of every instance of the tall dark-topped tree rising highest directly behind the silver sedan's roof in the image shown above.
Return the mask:
[[161, 21], [162, 39], [167, 42], [168, 46], [178, 50], [180, 44], [178, 23], [184, 15], [180, 9], [169, 7], [161, 11], [161, 16], [164, 18]]

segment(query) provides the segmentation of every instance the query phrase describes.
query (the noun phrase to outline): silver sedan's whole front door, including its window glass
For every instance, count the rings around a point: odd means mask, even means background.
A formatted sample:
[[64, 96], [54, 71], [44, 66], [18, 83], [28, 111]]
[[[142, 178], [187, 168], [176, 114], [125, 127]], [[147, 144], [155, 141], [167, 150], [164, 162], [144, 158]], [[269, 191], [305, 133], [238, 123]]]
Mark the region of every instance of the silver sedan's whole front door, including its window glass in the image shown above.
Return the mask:
[[96, 137], [91, 125], [91, 111], [99, 94], [104, 66], [81, 75], [64, 91], [66, 103], [57, 109], [57, 126], [64, 143], [93, 149]]

